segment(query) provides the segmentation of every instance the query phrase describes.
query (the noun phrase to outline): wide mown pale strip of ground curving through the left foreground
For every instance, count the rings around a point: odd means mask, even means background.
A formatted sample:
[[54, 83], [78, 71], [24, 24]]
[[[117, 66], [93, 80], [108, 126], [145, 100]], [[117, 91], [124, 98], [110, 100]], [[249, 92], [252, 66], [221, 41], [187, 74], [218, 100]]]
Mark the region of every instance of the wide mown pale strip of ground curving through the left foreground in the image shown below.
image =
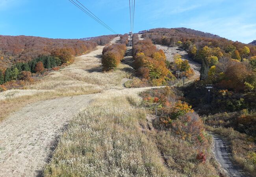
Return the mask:
[[40, 101], [0, 124], [0, 176], [35, 176], [61, 130], [95, 94]]

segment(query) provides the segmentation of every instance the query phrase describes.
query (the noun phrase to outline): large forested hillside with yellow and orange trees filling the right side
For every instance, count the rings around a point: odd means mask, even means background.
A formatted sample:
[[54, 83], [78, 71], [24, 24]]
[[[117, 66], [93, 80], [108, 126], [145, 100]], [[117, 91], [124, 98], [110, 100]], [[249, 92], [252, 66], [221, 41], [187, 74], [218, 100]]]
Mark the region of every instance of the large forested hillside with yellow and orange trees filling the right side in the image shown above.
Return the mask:
[[[180, 89], [183, 101], [204, 115], [208, 131], [228, 137], [232, 160], [254, 176], [255, 41], [244, 44], [186, 28], [153, 29], [142, 37], [170, 48], [178, 46], [187, 51], [190, 59], [201, 63], [200, 80]], [[211, 86], [210, 92], [206, 85]], [[167, 117], [173, 121], [171, 116]]]

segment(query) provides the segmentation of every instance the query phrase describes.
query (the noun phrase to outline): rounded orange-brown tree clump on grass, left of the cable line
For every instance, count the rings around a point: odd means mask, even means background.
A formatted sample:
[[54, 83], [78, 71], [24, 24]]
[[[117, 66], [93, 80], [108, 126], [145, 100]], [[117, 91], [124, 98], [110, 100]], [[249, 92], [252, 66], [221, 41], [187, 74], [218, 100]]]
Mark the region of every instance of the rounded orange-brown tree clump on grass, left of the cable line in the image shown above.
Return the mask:
[[112, 44], [111, 46], [105, 46], [102, 51], [103, 71], [115, 69], [124, 58], [125, 52], [125, 44]]

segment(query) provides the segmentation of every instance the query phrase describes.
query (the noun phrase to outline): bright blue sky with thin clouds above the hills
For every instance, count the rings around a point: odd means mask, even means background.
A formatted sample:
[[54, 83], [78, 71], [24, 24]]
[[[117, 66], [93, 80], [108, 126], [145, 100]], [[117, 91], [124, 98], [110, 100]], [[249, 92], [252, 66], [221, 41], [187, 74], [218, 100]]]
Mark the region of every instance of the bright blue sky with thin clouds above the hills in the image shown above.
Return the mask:
[[[117, 33], [130, 29], [128, 0], [80, 0]], [[186, 27], [233, 41], [256, 39], [255, 0], [135, 0], [134, 31]], [[68, 0], [0, 0], [0, 34], [79, 39], [111, 34]]]

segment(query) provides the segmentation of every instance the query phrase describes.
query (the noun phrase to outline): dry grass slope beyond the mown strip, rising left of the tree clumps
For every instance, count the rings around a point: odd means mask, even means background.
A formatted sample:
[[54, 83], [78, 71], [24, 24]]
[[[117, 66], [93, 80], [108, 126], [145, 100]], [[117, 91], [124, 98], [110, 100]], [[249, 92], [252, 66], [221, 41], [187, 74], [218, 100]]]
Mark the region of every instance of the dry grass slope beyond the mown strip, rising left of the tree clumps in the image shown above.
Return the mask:
[[11, 112], [29, 103], [81, 94], [94, 94], [108, 89], [123, 89], [122, 79], [129, 78], [127, 65], [120, 64], [114, 72], [101, 72], [101, 52], [98, 46], [89, 54], [76, 57], [72, 65], [50, 72], [24, 90], [7, 90], [0, 93], [0, 121]]

